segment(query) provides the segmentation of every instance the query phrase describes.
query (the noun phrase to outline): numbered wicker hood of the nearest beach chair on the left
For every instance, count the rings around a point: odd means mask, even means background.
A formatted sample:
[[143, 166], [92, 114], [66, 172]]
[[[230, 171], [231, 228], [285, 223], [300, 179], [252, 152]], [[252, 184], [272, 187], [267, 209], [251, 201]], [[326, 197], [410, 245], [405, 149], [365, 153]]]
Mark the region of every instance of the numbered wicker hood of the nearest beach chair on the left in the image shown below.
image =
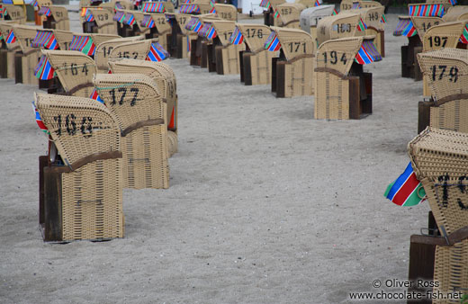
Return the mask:
[[118, 121], [103, 103], [56, 94], [34, 94], [34, 99], [59, 155], [72, 169], [98, 154], [120, 152]]

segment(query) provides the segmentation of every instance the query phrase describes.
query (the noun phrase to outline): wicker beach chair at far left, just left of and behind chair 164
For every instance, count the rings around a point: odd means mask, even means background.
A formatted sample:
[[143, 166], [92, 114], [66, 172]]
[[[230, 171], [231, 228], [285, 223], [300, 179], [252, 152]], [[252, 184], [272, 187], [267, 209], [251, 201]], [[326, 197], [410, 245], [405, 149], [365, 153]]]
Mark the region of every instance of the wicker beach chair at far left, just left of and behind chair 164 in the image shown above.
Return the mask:
[[16, 52], [14, 57], [15, 82], [38, 85], [39, 81], [34, 76], [34, 69], [40, 57], [40, 49], [31, 46], [31, 42], [36, 37], [37, 28], [18, 24], [14, 25], [13, 32], [22, 50], [22, 52]]

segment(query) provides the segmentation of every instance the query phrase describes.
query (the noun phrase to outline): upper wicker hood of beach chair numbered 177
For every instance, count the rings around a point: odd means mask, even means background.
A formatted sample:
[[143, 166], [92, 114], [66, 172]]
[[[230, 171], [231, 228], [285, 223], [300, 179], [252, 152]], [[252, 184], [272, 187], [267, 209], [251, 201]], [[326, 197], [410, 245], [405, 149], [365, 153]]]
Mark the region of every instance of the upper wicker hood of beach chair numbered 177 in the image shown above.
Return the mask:
[[157, 84], [142, 74], [98, 74], [94, 87], [107, 108], [115, 114], [123, 134], [142, 121], [166, 123], [166, 105]]

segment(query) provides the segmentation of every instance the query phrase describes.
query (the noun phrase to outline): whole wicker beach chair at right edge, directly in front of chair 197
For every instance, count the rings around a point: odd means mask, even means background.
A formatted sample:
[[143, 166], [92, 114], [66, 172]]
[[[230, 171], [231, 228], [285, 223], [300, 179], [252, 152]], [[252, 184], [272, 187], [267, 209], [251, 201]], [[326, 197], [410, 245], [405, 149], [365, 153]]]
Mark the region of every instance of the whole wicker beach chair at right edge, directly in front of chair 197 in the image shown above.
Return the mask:
[[427, 126], [468, 133], [468, 54], [439, 49], [419, 54], [432, 101], [419, 103], [419, 130]]

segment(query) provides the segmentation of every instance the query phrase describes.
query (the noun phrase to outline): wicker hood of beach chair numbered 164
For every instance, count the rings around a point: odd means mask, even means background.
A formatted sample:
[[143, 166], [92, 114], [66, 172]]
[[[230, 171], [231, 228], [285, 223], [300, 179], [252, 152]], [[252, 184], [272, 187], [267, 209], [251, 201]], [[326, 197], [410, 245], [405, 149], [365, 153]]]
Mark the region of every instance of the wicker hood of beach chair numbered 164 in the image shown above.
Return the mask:
[[76, 50], [42, 50], [68, 95], [88, 98], [93, 93], [94, 60]]

